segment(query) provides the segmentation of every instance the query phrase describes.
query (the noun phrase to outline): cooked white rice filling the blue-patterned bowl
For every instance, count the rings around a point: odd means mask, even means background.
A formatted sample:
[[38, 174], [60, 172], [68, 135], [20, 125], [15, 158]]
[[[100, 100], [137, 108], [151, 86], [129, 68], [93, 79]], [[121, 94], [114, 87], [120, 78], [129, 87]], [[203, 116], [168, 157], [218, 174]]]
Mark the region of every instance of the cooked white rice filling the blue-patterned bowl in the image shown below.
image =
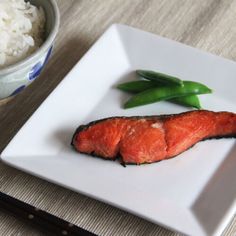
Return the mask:
[[45, 14], [24, 0], [0, 0], [0, 68], [32, 54], [43, 43]]

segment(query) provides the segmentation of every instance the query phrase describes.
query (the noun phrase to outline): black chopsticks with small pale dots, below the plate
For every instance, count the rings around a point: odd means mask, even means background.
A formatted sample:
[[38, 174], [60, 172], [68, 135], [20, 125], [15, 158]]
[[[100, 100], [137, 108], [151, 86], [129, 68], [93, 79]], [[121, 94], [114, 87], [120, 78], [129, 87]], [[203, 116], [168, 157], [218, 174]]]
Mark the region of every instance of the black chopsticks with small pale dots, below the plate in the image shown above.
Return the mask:
[[40, 227], [50, 235], [94, 236], [95, 234], [60, 219], [46, 211], [37, 209], [25, 202], [0, 192], [0, 209], [5, 210], [28, 223]]

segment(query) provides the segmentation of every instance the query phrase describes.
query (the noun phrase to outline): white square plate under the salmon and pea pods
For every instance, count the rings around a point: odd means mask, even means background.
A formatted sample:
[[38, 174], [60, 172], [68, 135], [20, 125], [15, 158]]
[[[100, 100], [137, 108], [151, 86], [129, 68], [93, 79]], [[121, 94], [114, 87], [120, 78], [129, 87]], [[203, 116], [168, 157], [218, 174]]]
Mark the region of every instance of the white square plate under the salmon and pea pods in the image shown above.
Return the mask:
[[[67, 55], [70, 56], [70, 55]], [[127, 166], [76, 153], [80, 124], [109, 116], [179, 113], [161, 102], [122, 109], [114, 86], [152, 69], [202, 82], [208, 110], [236, 112], [236, 63], [124, 25], [111, 26], [12, 139], [7, 164], [99, 199], [179, 232], [220, 235], [233, 216], [236, 146], [233, 139], [200, 142], [176, 158]]]

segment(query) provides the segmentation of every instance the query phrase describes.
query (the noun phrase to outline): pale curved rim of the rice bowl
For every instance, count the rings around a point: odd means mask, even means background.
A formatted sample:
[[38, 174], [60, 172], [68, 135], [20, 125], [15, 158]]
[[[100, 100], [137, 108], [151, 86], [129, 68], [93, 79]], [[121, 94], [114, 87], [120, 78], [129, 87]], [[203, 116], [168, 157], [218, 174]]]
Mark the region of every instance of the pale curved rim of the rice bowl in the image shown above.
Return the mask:
[[52, 45], [52, 42], [56, 38], [57, 32], [59, 30], [60, 13], [59, 13], [59, 8], [57, 6], [56, 0], [49, 0], [49, 2], [52, 5], [55, 19], [54, 19], [54, 24], [52, 26], [52, 29], [51, 29], [47, 39], [43, 42], [43, 44], [36, 51], [34, 51], [28, 57], [24, 58], [23, 60], [20, 60], [17, 63], [6, 66], [3, 69], [0, 69], [0, 76], [16, 72], [16, 71], [20, 70], [20, 68], [27, 66], [27, 64], [32, 63], [35, 59], [39, 58], [41, 56], [41, 54]]

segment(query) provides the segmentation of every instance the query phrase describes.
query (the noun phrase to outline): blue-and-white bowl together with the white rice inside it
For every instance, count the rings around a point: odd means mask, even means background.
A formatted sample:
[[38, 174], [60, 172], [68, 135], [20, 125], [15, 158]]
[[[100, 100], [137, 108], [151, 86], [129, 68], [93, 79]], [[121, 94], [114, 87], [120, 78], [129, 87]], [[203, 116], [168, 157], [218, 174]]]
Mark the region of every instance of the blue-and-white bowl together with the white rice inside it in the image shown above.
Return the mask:
[[0, 0], [0, 105], [39, 77], [59, 24], [56, 0]]

